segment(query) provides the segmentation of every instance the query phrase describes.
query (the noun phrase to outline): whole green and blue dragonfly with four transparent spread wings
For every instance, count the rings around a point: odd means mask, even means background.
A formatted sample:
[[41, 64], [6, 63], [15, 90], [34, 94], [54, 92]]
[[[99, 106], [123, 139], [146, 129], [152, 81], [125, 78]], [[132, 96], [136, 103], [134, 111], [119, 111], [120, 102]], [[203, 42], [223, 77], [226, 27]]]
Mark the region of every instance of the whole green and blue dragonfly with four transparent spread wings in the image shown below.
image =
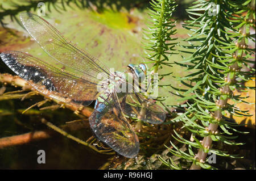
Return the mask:
[[[150, 124], [161, 124], [166, 119], [166, 112], [154, 100], [127, 86], [132, 85], [130, 79], [143, 81], [146, 65], [129, 64], [126, 71], [110, 71], [40, 16], [23, 12], [20, 20], [55, 64], [14, 50], [0, 54], [3, 62], [41, 94], [62, 103], [85, 107], [96, 100], [89, 117], [94, 135], [118, 154], [136, 157], [139, 139], [126, 116]], [[117, 91], [120, 85], [131, 88]]]

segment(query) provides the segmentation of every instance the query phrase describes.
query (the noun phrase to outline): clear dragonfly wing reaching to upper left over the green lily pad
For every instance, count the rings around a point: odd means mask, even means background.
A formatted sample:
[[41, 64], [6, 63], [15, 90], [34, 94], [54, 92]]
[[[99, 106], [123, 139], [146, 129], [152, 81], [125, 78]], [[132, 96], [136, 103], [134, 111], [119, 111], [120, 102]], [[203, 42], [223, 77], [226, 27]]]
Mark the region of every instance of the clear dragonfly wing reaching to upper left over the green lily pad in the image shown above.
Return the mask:
[[73, 69], [72, 72], [84, 74], [88, 81], [97, 80], [98, 73], [104, 72], [109, 75], [108, 68], [89, 53], [85, 52], [65, 39], [43, 18], [38, 15], [24, 12], [20, 19], [28, 33], [38, 44], [56, 61]]

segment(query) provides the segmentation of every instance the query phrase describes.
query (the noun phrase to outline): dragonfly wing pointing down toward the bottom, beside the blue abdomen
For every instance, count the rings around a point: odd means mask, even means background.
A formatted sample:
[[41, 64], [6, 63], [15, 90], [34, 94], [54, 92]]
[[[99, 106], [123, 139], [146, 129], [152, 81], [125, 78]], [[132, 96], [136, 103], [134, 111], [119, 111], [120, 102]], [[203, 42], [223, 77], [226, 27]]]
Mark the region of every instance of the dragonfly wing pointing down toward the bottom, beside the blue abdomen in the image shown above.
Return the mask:
[[139, 152], [139, 140], [116, 101], [115, 95], [111, 95], [100, 104], [89, 118], [90, 127], [99, 140], [117, 153], [134, 158]]

